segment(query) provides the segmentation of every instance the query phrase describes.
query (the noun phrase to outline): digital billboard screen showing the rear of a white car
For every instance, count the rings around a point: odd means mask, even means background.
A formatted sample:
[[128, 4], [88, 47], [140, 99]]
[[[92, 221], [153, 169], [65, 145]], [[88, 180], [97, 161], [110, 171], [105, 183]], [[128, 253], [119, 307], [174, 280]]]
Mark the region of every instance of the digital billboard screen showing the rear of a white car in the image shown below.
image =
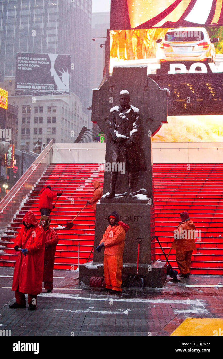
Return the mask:
[[130, 65], [147, 65], [148, 74], [222, 73], [223, 26], [110, 31], [110, 75]]

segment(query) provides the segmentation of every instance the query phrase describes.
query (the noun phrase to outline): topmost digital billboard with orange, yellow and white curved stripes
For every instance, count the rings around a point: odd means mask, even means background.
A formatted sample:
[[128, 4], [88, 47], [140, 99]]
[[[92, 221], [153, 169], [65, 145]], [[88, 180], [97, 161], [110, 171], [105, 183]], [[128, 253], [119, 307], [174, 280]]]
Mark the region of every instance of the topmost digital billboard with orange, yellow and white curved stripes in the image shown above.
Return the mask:
[[111, 0], [111, 29], [223, 25], [222, 0]]

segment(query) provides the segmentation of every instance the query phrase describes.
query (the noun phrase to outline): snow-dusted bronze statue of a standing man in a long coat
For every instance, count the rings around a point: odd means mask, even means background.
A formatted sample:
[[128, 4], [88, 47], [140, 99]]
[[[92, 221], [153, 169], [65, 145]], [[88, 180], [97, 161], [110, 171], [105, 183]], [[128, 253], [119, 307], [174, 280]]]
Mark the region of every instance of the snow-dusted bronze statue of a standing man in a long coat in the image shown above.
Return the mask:
[[[111, 157], [115, 163], [125, 163], [128, 174], [127, 196], [133, 193], [134, 177], [137, 172], [146, 171], [144, 152], [141, 148], [143, 130], [139, 109], [130, 105], [130, 95], [120, 92], [120, 106], [112, 107], [108, 118], [108, 134], [111, 140]], [[110, 194], [115, 197], [118, 172], [111, 172]]]

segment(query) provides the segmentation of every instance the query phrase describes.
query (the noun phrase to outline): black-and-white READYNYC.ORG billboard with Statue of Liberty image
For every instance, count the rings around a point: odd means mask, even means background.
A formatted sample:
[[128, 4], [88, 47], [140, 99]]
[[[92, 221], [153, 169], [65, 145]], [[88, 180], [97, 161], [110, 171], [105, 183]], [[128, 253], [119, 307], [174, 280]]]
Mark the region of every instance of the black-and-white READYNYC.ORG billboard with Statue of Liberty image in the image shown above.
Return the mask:
[[15, 89], [69, 92], [70, 73], [70, 55], [19, 52]]

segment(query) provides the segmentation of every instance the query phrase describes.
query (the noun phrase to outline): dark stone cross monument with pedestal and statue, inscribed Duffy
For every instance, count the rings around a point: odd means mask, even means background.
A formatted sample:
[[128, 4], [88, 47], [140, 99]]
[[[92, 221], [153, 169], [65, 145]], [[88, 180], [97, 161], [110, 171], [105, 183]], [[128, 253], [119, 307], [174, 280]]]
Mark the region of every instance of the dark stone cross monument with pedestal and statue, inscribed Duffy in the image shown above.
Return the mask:
[[[89, 285], [91, 276], [103, 275], [103, 255], [95, 248], [108, 226], [107, 216], [117, 211], [129, 225], [123, 252], [122, 285], [136, 272], [146, 286], [161, 287], [166, 264], [155, 261], [154, 191], [151, 137], [167, 123], [167, 92], [147, 76], [147, 66], [113, 67], [113, 75], [93, 90], [92, 122], [107, 134], [103, 197], [96, 208], [94, 269], [80, 265], [79, 283]], [[96, 270], [97, 266], [97, 270]]]

